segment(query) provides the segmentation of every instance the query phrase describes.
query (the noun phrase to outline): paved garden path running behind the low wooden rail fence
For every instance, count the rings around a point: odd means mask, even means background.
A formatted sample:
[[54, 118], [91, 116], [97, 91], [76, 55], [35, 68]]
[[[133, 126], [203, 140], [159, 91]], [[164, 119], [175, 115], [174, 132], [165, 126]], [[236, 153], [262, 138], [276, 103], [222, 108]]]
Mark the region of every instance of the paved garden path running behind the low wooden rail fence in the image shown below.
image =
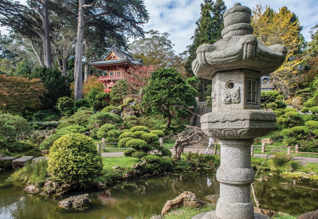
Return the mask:
[[[173, 149], [169, 148], [169, 150], [172, 152], [173, 154]], [[201, 154], [203, 154], [206, 151], [206, 148], [184, 148], [184, 152], [199, 152]], [[209, 149], [209, 152], [211, 152], [211, 150]], [[220, 151], [218, 151], [218, 154], [220, 153]], [[118, 152], [103, 152], [101, 153], [102, 157], [123, 157], [124, 156], [124, 152], [122, 151], [118, 151]], [[266, 154], [254, 154], [254, 157], [266, 157]], [[313, 158], [313, 157], [294, 157], [293, 158], [294, 161], [300, 161], [300, 162], [309, 162], [309, 163], [318, 163], [318, 158]]]

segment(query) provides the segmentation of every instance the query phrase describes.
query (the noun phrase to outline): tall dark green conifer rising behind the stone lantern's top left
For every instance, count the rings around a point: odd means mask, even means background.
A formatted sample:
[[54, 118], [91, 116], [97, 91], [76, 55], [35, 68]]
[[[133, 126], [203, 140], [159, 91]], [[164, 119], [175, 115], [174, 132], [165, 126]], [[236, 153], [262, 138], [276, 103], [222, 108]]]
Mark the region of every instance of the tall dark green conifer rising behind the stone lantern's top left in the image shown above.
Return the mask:
[[205, 43], [213, 44], [222, 38], [223, 14], [226, 6], [223, 0], [204, 0], [201, 3], [201, 17], [197, 20], [197, 28], [194, 31], [193, 43], [189, 46], [189, 57], [186, 61], [186, 69], [192, 73], [191, 64], [197, 57], [197, 48]]

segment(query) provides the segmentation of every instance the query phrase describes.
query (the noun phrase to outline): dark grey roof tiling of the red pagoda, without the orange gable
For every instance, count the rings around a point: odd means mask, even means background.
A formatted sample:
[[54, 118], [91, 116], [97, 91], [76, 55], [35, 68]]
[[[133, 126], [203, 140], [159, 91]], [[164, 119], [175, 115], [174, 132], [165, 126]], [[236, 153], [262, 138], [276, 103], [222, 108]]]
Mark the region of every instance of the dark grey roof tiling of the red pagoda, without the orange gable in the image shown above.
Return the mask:
[[[111, 53], [114, 53], [119, 59], [108, 59], [105, 60]], [[134, 58], [132, 55], [118, 49], [115, 45], [112, 46], [108, 54], [104, 58], [91, 60], [90, 65], [107, 65], [107, 64], [120, 64], [128, 62], [131, 65], [143, 65], [142, 59]]]

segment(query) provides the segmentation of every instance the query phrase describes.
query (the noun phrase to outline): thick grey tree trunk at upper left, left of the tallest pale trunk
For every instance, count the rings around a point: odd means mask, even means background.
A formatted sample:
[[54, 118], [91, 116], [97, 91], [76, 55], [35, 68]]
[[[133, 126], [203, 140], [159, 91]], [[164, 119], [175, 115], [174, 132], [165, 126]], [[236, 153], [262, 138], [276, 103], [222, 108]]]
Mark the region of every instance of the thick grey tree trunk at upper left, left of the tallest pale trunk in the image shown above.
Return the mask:
[[49, 13], [47, 0], [42, 1], [42, 14], [43, 14], [43, 53], [44, 63], [48, 68], [53, 69], [53, 57], [51, 51], [50, 33], [49, 33]]

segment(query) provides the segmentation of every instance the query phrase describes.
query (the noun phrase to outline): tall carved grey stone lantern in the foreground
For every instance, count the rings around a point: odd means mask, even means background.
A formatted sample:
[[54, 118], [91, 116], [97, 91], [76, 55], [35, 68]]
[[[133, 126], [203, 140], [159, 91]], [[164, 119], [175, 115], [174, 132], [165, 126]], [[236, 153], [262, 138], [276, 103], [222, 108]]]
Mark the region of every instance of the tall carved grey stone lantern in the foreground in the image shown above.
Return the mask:
[[266, 47], [251, 35], [248, 7], [236, 3], [223, 17], [223, 39], [199, 46], [192, 63], [195, 75], [212, 80], [212, 112], [201, 117], [201, 128], [221, 145], [216, 210], [194, 218], [269, 218], [254, 214], [250, 198], [255, 179], [251, 145], [274, 128], [275, 114], [260, 110], [260, 77], [283, 64], [287, 49], [278, 44]]

